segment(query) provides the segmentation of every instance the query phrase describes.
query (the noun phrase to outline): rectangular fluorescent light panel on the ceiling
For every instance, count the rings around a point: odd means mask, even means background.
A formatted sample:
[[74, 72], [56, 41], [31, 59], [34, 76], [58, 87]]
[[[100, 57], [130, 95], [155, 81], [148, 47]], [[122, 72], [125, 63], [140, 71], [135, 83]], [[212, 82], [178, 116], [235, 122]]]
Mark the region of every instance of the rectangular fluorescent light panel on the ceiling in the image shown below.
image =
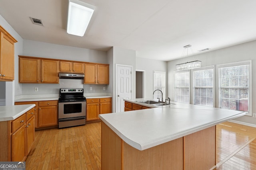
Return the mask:
[[84, 36], [94, 8], [94, 6], [80, 0], [69, 0], [67, 33]]

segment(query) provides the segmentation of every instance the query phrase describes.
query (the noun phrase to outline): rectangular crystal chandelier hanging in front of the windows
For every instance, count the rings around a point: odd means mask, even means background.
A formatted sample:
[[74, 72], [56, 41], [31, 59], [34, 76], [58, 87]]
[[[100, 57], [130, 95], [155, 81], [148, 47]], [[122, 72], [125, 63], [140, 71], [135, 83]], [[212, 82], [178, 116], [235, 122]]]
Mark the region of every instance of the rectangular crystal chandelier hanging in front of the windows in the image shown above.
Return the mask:
[[[192, 51], [192, 54], [194, 55], [194, 52], [191, 48], [192, 45], [186, 45], [184, 46], [184, 51], [182, 53], [182, 57], [184, 56], [185, 52], [187, 51], [187, 55], [188, 55], [188, 49], [190, 49]], [[180, 59], [181, 62], [182, 58]], [[176, 64], [176, 69], [177, 70], [190, 70], [190, 69], [194, 69], [194, 68], [200, 68], [201, 67], [201, 61], [190, 61], [190, 62], [186, 62], [186, 63], [182, 63], [182, 64]]]

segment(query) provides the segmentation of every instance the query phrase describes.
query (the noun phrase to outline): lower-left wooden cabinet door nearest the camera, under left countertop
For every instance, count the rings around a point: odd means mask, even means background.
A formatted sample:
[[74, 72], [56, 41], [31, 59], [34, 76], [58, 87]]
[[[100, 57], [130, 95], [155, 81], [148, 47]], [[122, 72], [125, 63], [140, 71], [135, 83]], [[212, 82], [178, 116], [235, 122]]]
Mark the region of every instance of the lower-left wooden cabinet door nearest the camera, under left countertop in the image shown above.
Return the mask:
[[26, 124], [15, 131], [11, 136], [11, 161], [24, 161], [26, 159]]

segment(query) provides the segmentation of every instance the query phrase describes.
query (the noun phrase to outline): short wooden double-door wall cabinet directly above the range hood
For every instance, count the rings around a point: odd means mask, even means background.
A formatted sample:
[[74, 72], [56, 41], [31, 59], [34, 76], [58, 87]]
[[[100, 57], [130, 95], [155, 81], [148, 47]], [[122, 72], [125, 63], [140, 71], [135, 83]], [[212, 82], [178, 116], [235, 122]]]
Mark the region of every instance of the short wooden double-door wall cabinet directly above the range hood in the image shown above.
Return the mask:
[[84, 73], [84, 63], [60, 61], [60, 71], [62, 71], [62, 72], [82, 72], [82, 73]]

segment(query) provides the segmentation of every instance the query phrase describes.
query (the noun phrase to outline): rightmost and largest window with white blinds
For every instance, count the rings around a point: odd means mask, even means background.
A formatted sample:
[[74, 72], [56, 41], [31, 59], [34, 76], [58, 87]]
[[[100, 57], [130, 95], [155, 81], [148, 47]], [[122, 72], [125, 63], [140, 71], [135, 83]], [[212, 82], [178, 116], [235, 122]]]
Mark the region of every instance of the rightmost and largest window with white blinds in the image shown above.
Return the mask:
[[[218, 68], [219, 107], [249, 112], [251, 102], [250, 61]], [[247, 113], [251, 115], [251, 113]]]

